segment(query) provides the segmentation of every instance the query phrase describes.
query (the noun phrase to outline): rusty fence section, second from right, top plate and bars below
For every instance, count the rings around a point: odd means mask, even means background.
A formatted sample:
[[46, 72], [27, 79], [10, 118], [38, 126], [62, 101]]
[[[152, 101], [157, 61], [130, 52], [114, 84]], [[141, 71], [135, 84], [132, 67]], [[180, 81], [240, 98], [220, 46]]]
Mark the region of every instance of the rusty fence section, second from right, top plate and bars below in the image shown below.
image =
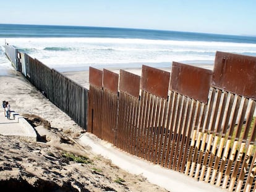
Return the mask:
[[[205, 105], [211, 81], [210, 70], [173, 62], [170, 95], [172, 102], [167, 123], [171, 137], [168, 138], [167, 154], [164, 166], [184, 172], [190, 166], [192, 154], [198, 152], [195, 147], [195, 135], [202, 128]], [[168, 162], [169, 159], [169, 162]]]

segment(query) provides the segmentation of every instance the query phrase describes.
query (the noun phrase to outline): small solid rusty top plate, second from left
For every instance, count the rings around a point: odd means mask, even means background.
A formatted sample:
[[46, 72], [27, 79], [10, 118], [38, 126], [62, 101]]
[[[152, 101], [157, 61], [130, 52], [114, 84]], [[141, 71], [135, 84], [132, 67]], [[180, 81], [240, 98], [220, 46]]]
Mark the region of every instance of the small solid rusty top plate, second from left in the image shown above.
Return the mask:
[[118, 79], [117, 73], [111, 72], [110, 70], [103, 69], [103, 87], [117, 93], [118, 91]]

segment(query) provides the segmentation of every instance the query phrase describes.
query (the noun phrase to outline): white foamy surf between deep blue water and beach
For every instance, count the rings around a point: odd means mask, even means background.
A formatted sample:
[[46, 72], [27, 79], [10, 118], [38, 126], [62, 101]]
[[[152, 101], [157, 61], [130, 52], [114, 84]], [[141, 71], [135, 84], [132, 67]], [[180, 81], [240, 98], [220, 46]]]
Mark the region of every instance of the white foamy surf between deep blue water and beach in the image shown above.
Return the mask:
[[[121, 38], [7, 38], [9, 44], [53, 68], [129, 67], [172, 61], [211, 61], [216, 51], [256, 56], [256, 44]], [[0, 38], [4, 44], [4, 39]], [[3, 55], [1, 54], [1, 57]], [[0, 59], [0, 65], [2, 59]]]

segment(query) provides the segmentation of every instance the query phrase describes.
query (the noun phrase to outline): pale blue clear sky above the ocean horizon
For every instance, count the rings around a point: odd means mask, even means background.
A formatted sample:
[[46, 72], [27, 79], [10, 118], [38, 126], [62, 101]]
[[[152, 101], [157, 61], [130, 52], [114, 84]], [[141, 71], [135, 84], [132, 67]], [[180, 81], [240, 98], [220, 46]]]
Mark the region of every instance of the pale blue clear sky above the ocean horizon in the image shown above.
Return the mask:
[[0, 23], [256, 35], [255, 8], [255, 0], [9, 0]]

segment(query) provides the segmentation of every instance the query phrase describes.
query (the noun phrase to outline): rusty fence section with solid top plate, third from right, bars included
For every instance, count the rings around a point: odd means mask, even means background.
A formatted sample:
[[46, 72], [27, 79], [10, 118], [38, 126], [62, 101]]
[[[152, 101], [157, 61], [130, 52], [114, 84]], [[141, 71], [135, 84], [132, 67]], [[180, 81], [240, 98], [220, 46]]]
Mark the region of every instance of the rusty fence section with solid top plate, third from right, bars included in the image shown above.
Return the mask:
[[164, 120], [168, 112], [168, 87], [170, 73], [142, 66], [139, 125], [135, 154], [155, 164], [160, 164]]

